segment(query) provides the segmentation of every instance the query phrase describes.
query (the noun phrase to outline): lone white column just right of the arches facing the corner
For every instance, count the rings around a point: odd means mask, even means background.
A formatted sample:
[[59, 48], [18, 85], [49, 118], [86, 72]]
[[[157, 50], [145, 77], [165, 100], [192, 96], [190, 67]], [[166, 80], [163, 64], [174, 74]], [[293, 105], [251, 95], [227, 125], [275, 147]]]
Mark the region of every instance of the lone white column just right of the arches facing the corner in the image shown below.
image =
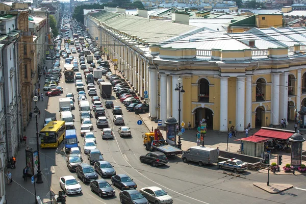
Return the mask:
[[227, 131], [228, 77], [220, 78], [220, 131]]

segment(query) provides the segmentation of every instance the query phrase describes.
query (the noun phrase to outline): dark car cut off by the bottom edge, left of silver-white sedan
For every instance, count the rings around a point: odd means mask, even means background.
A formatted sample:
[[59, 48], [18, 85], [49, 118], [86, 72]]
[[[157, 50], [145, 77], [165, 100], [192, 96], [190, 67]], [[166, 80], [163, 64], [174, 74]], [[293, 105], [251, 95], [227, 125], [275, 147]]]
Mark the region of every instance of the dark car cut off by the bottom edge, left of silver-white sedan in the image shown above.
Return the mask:
[[149, 201], [137, 190], [126, 190], [119, 193], [121, 203], [148, 204]]

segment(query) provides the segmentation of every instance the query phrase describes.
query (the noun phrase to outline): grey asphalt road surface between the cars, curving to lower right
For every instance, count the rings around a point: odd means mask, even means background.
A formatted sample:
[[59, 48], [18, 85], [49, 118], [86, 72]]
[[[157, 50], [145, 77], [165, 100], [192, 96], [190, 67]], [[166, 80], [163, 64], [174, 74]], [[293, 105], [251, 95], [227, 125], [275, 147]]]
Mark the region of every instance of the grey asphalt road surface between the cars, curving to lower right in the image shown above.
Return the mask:
[[[72, 33], [70, 33], [70, 36], [72, 38]], [[78, 59], [78, 54], [72, 55]], [[64, 60], [61, 59], [62, 68], [64, 64]], [[83, 74], [83, 70], [80, 69], [80, 71]], [[84, 74], [83, 82], [86, 84]], [[57, 118], [60, 118], [59, 98], [65, 97], [67, 92], [74, 93], [76, 99], [75, 110], [72, 111], [74, 126], [79, 134], [78, 140], [80, 141], [81, 150], [84, 152], [83, 138], [80, 135], [81, 119], [75, 85], [74, 83], [66, 84], [63, 77], [60, 86], [64, 88], [64, 93], [59, 96], [49, 97], [46, 116], [48, 114], [56, 114]], [[96, 90], [99, 91], [97, 86]], [[87, 98], [91, 103], [88, 95]], [[270, 174], [270, 183], [292, 184], [295, 188], [282, 194], [268, 194], [253, 186], [254, 182], [266, 182], [267, 175], [254, 171], [246, 171], [241, 174], [241, 177], [235, 177], [224, 174], [215, 165], [200, 167], [197, 164], [183, 163], [179, 157], [170, 158], [169, 163], [163, 167], [152, 167], [140, 163], [139, 156], [147, 153], [143, 146], [142, 134], [148, 130], [144, 124], [137, 124], [137, 120], [140, 119], [139, 115], [127, 112], [114, 96], [111, 97], [111, 100], [114, 101], [114, 105], [122, 107], [124, 122], [131, 129], [132, 138], [121, 138], [118, 135], [119, 126], [113, 124], [113, 114], [110, 109], [107, 109], [107, 117], [115, 139], [103, 140], [100, 134], [101, 129], [96, 127], [95, 119], [91, 118], [97, 149], [102, 152], [104, 160], [109, 161], [114, 166], [117, 174], [127, 174], [134, 179], [138, 186], [137, 190], [148, 186], [159, 186], [174, 198], [174, 203], [302, 203], [306, 200], [304, 176]], [[61, 148], [63, 147], [64, 144], [61, 144]], [[54, 192], [60, 190], [59, 178], [61, 176], [73, 175], [77, 178], [74, 172], [68, 171], [65, 156], [56, 154], [55, 149], [42, 149], [41, 152], [46, 156], [43, 157], [45, 161], [42, 162], [42, 169], [45, 166], [45, 170], [50, 171], [50, 173], [44, 173], [44, 176], [49, 177], [48, 180], [51, 181], [50, 186]], [[83, 155], [83, 161], [89, 163], [85, 155]], [[230, 171], [225, 172], [231, 173]], [[111, 183], [110, 179], [106, 180]], [[80, 184], [83, 193], [80, 195], [68, 195], [66, 203], [120, 203], [120, 190], [116, 187], [114, 187], [116, 190], [114, 197], [100, 198], [90, 191], [89, 184], [83, 184], [82, 182]]]

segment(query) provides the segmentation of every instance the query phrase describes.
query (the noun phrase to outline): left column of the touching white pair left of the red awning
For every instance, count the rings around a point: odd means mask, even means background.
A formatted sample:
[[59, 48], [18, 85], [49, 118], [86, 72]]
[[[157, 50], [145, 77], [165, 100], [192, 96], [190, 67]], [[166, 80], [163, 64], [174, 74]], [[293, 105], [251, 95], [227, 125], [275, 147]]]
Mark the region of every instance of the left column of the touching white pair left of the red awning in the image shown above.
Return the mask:
[[236, 130], [244, 131], [244, 99], [245, 99], [245, 77], [237, 77], [236, 81]]

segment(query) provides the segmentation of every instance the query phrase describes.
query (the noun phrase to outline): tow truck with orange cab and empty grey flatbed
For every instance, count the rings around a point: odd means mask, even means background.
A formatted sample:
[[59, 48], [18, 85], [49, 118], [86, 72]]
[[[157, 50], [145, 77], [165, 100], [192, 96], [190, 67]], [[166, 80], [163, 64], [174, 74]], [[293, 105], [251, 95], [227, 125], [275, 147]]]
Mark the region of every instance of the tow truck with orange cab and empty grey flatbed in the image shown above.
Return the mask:
[[159, 129], [142, 135], [143, 146], [146, 150], [163, 152], [167, 157], [182, 154], [182, 149], [166, 142]]

